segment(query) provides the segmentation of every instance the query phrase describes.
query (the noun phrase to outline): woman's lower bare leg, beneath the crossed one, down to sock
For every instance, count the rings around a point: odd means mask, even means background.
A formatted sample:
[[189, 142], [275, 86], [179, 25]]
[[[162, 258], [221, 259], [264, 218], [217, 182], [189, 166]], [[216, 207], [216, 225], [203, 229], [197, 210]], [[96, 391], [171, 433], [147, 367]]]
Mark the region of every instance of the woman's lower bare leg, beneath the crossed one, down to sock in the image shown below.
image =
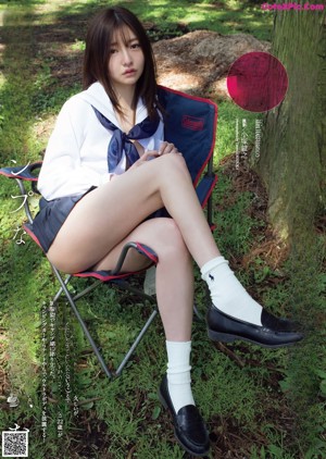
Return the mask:
[[[190, 253], [172, 219], [152, 219], [141, 223], [99, 263], [95, 270], [114, 265], [123, 246], [137, 240], [146, 243], [159, 257], [156, 296], [167, 340], [188, 342], [191, 336], [193, 306], [193, 268]], [[129, 250], [124, 271], [145, 268], [148, 260]]]

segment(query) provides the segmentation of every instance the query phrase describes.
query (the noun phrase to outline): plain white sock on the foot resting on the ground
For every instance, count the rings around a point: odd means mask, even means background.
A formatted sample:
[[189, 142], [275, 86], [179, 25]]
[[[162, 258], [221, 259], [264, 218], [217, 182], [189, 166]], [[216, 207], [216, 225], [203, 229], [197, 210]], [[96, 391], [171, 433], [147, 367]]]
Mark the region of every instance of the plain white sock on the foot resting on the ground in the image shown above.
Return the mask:
[[166, 342], [167, 387], [175, 412], [187, 405], [195, 405], [191, 393], [191, 342]]

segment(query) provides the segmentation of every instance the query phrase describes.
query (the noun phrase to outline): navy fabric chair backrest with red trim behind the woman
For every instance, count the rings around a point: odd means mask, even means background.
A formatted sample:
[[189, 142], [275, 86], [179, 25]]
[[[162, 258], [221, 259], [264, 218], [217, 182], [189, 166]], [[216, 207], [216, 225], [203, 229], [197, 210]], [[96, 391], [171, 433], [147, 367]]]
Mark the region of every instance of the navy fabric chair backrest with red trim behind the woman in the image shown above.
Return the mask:
[[164, 86], [159, 86], [158, 96], [165, 111], [165, 139], [184, 154], [192, 182], [197, 185], [214, 151], [217, 106], [209, 99]]

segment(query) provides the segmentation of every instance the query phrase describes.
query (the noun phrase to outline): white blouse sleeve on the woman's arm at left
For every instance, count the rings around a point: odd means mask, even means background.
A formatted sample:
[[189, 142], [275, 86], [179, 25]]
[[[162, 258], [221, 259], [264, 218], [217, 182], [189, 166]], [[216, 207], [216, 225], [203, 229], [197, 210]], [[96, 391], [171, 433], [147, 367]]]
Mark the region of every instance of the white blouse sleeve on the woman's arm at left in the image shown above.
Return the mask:
[[76, 98], [61, 109], [38, 179], [38, 189], [46, 199], [79, 195], [110, 179], [108, 169], [88, 168], [82, 160], [91, 116], [89, 106]]

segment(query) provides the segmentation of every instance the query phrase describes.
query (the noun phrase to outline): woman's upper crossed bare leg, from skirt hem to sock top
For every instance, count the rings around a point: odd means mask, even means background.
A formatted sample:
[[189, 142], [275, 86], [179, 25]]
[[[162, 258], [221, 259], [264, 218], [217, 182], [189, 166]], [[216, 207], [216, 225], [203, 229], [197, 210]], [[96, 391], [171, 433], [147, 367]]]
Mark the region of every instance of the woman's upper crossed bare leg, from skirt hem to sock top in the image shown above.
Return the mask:
[[103, 260], [163, 206], [199, 266], [220, 255], [184, 159], [166, 154], [86, 195], [68, 215], [48, 257], [62, 271], [83, 271]]

